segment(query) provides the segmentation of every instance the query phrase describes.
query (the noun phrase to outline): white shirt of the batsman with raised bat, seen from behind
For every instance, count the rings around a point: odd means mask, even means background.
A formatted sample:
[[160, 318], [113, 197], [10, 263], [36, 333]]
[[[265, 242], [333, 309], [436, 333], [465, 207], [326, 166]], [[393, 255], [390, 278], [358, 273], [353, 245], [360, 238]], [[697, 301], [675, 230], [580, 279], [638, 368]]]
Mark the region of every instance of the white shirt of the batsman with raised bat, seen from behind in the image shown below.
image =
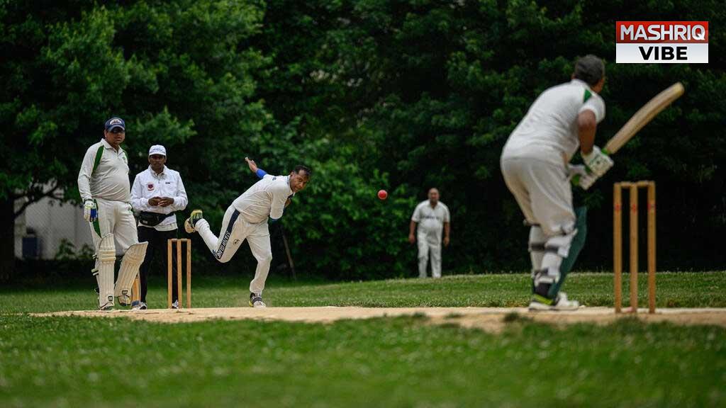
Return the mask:
[[605, 118], [605, 102], [584, 81], [545, 90], [529, 107], [505, 144], [502, 158], [536, 157], [562, 165], [579, 147], [577, 116], [584, 110], [595, 113], [597, 123]]

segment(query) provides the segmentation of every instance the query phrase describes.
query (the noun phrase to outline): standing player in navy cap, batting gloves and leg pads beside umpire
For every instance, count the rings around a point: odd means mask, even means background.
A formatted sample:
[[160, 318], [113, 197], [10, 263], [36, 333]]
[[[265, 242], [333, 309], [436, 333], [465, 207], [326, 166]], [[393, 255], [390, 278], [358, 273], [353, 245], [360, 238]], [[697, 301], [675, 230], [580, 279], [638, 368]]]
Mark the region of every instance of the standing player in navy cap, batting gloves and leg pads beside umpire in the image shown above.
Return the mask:
[[[91, 145], [78, 172], [78, 192], [83, 199], [83, 218], [89, 221], [96, 253], [93, 274], [99, 287], [98, 307], [129, 306], [131, 285], [144, 261], [147, 242], [139, 243], [129, 191], [129, 158], [121, 149], [126, 123], [110, 118], [104, 138]], [[118, 280], [113, 283], [116, 254], [122, 255]]]

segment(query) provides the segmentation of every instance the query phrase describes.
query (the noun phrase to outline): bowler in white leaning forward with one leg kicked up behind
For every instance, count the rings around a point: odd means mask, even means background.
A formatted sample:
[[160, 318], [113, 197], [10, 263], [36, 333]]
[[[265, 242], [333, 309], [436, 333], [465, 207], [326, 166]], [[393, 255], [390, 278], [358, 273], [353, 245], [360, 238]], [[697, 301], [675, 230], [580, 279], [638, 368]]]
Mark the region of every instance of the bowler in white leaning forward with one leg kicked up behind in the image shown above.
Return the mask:
[[227, 262], [234, 256], [242, 241], [247, 240], [252, 255], [257, 260], [255, 277], [250, 282], [250, 306], [265, 307], [262, 301], [262, 290], [272, 262], [272, 246], [267, 223], [275, 222], [282, 217], [285, 207], [290, 204], [293, 195], [301, 192], [310, 181], [310, 169], [306, 166], [295, 166], [287, 176], [271, 176], [253, 160], [245, 158], [250, 170], [261, 180], [257, 181], [244, 194], [237, 197], [222, 219], [219, 237], [209, 228], [209, 223], [202, 218], [202, 211], [192, 211], [184, 221], [184, 229], [199, 232], [202, 239], [212, 251], [217, 261]]

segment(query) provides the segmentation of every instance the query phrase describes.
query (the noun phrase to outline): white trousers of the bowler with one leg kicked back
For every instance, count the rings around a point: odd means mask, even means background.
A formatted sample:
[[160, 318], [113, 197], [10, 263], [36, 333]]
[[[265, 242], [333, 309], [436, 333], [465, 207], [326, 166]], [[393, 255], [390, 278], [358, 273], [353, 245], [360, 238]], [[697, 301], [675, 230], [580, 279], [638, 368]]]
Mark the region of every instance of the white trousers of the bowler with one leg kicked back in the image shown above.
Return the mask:
[[224, 213], [224, 219], [222, 219], [219, 238], [213, 234], [209, 228], [209, 223], [205, 219], [197, 221], [195, 229], [197, 229], [209, 250], [212, 251], [214, 257], [217, 258], [217, 261], [220, 262], [228, 262], [232, 259], [234, 253], [237, 253], [237, 249], [242, 245], [242, 241], [247, 240], [252, 255], [257, 260], [255, 278], [250, 282], [250, 292], [258, 295], [262, 294], [270, 264], [272, 263], [270, 232], [266, 222], [250, 224], [234, 208], [234, 205], [229, 205], [227, 212]]

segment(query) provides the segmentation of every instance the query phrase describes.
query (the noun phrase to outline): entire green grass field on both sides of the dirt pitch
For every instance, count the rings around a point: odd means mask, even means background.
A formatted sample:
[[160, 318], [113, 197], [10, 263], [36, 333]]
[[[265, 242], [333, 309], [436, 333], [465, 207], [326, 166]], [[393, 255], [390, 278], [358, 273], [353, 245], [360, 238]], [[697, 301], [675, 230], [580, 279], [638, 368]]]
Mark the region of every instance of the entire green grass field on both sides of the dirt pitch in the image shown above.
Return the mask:
[[[150, 306], [162, 307], [166, 288], [152, 283]], [[244, 306], [247, 285], [197, 278], [193, 301]], [[270, 282], [265, 295], [274, 306], [523, 306], [528, 285], [525, 274]], [[658, 306], [725, 307], [725, 289], [726, 272], [658, 274]], [[589, 306], [611, 305], [612, 275], [574, 274], [566, 290]], [[0, 407], [726, 404], [722, 327], [621, 319], [555, 328], [513, 319], [491, 334], [423, 317], [171, 325], [18, 313], [93, 305], [86, 283], [0, 289]]]

